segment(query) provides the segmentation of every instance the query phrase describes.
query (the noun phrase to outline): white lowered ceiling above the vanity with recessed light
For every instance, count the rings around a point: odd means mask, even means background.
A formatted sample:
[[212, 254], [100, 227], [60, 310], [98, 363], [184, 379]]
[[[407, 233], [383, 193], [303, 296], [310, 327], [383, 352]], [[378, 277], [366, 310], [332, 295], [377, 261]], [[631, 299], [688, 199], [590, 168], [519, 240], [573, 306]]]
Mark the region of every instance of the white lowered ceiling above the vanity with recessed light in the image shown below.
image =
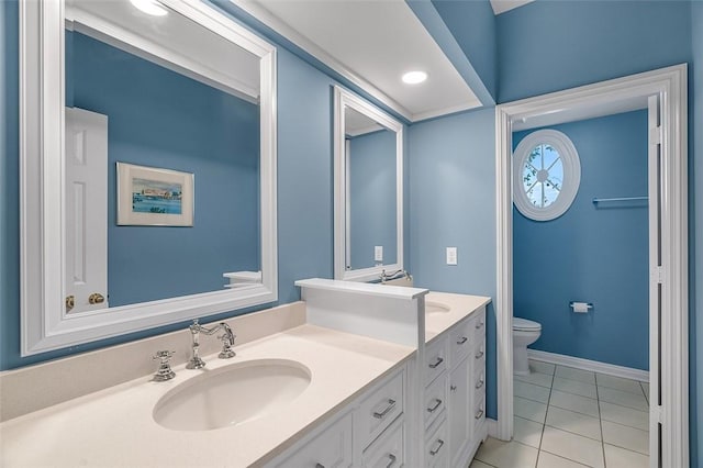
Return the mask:
[[481, 105], [404, 0], [233, 1], [410, 121]]

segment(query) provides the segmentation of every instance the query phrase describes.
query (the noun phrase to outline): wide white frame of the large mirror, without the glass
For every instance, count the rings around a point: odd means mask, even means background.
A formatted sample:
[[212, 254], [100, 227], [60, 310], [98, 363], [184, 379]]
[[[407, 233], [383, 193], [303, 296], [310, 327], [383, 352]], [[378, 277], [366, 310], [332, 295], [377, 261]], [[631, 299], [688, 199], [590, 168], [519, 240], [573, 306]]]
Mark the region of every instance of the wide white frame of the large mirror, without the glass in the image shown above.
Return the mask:
[[34, 355], [278, 299], [276, 48], [199, 1], [166, 7], [260, 58], [261, 283], [85, 313], [64, 310], [64, 1], [20, 0], [21, 353]]

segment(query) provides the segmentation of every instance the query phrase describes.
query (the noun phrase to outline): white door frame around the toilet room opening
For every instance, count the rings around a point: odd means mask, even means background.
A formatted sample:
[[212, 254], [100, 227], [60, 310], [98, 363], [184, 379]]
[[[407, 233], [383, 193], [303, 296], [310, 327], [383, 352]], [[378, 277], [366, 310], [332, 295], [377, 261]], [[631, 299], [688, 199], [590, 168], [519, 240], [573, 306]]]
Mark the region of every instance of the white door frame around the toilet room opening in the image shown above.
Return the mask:
[[648, 109], [650, 467], [688, 466], [687, 66], [496, 108], [498, 426], [513, 435], [513, 161], [520, 123], [547, 126]]

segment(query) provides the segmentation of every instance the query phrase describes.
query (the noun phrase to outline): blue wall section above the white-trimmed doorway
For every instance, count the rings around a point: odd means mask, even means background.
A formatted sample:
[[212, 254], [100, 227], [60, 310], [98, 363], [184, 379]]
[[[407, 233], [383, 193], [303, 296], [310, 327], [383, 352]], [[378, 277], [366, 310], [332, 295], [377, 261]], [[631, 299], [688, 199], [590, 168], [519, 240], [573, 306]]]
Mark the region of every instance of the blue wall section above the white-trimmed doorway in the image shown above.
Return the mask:
[[690, 2], [537, 0], [496, 16], [499, 102], [691, 58]]

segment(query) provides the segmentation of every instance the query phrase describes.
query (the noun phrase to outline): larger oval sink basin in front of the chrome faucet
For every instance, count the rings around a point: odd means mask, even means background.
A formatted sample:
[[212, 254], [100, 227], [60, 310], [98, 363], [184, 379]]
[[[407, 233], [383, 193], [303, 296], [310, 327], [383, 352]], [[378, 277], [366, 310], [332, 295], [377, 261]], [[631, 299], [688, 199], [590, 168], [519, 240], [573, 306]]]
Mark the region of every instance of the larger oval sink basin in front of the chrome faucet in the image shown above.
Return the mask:
[[175, 431], [210, 431], [281, 411], [310, 385], [310, 370], [286, 359], [259, 359], [214, 370], [170, 390], [154, 421]]

